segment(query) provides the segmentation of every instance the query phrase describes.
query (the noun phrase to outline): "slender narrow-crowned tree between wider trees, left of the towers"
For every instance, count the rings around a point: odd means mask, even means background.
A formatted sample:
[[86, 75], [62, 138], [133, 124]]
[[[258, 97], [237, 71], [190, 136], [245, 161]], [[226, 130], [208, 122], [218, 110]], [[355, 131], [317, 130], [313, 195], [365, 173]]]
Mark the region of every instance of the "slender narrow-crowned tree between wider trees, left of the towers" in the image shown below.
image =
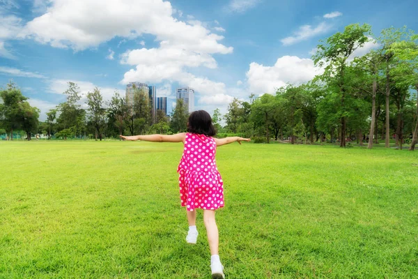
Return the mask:
[[93, 123], [95, 128], [95, 140], [102, 140], [102, 129], [105, 124], [106, 110], [103, 107], [103, 97], [100, 93], [100, 89], [95, 87], [93, 92], [87, 93], [87, 102], [88, 105], [88, 119]]

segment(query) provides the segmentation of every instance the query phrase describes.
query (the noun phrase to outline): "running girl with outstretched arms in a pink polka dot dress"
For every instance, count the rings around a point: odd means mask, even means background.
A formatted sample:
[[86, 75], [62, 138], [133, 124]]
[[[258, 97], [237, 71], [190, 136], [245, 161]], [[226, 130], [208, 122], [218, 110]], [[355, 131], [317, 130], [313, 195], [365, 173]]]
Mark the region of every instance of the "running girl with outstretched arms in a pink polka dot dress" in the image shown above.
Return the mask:
[[199, 233], [196, 229], [196, 209], [203, 209], [203, 223], [208, 233], [210, 268], [212, 278], [224, 278], [224, 266], [219, 259], [219, 233], [215, 222], [215, 211], [224, 207], [224, 183], [216, 166], [217, 146], [231, 142], [249, 142], [242, 137], [216, 139], [216, 130], [208, 112], [192, 112], [187, 123], [188, 133], [177, 135], [134, 135], [124, 140], [146, 140], [148, 142], [183, 142], [183, 156], [178, 164], [181, 205], [187, 209], [189, 232], [187, 243], [196, 244]]

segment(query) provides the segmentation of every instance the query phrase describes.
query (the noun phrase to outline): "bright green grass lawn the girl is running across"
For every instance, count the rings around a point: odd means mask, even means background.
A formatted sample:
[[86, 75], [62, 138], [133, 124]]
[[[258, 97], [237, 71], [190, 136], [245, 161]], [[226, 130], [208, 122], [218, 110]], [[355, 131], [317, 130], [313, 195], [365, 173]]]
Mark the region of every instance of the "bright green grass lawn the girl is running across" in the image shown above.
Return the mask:
[[[181, 144], [0, 142], [0, 278], [210, 278]], [[418, 278], [418, 151], [219, 147], [227, 278]]]

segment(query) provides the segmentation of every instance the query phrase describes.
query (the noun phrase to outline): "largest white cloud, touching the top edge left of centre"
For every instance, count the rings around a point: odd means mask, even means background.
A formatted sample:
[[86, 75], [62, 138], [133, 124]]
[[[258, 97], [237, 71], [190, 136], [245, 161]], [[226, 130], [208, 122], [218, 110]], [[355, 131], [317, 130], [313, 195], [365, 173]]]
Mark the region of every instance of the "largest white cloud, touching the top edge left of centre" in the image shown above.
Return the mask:
[[[91, 15], [94, 10], [95, 15]], [[20, 36], [33, 37], [53, 47], [84, 50], [116, 36], [136, 38], [150, 33], [156, 40], [210, 53], [229, 53], [217, 43], [222, 37], [201, 26], [176, 20], [168, 1], [52, 0], [47, 13], [26, 24]]]

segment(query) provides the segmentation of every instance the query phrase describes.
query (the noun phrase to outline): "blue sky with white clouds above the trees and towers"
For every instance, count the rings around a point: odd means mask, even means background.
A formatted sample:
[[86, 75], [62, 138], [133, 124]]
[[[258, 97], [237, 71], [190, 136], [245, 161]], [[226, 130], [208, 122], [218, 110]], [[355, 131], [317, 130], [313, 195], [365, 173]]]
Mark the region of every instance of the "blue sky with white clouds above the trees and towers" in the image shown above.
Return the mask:
[[98, 86], [106, 99], [146, 82], [171, 102], [176, 87], [192, 86], [196, 108], [225, 112], [233, 97], [311, 80], [318, 40], [348, 24], [418, 31], [417, 8], [414, 0], [0, 0], [0, 86], [16, 82], [42, 119], [69, 81], [83, 93]]

